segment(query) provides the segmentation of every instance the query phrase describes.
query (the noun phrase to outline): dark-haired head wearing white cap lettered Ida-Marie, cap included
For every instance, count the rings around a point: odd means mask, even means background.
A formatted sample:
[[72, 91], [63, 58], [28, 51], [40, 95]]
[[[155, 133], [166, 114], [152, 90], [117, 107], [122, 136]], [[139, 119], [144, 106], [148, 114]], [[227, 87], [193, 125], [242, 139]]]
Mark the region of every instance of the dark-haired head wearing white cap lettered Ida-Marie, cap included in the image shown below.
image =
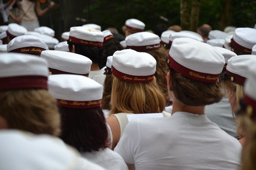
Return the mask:
[[49, 76], [48, 86], [61, 113], [60, 138], [80, 152], [105, 148], [108, 133], [100, 107], [103, 87], [91, 78], [70, 74]]

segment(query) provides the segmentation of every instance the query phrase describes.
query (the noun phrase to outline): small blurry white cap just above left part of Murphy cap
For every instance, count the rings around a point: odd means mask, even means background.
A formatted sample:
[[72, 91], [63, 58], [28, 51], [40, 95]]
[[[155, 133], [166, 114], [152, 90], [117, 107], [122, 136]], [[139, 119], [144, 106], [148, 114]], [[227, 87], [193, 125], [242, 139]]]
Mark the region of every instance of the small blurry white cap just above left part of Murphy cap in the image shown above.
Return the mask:
[[11, 23], [8, 25], [8, 30], [6, 31], [7, 35], [11, 38], [25, 35], [27, 29], [24, 26], [21, 26], [16, 23]]

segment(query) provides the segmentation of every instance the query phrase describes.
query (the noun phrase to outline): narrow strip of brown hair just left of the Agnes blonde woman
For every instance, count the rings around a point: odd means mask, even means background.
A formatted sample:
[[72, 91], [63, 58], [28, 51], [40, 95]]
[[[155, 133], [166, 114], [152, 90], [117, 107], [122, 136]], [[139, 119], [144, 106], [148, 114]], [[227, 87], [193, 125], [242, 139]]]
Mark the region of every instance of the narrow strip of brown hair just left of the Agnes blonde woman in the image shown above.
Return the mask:
[[101, 100], [101, 108], [104, 110], [111, 110], [110, 99], [111, 99], [111, 92], [112, 92], [112, 83], [113, 83], [113, 76], [112, 74], [107, 73], [104, 81], [103, 96]]

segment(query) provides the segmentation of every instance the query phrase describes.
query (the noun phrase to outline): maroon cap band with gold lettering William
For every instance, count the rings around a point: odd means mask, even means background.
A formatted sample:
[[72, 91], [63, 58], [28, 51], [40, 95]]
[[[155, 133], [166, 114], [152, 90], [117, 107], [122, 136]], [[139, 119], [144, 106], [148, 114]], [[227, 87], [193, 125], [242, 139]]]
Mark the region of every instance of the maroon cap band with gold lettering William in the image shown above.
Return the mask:
[[178, 73], [181, 73], [183, 76], [187, 78], [191, 78], [193, 80], [197, 80], [205, 83], [215, 83], [218, 81], [218, 78], [219, 78], [219, 74], [201, 73], [201, 72], [186, 68], [183, 65], [177, 63], [175, 60], [173, 60], [173, 58], [171, 58], [170, 55], [168, 55], [167, 63], [171, 68], [173, 68]]

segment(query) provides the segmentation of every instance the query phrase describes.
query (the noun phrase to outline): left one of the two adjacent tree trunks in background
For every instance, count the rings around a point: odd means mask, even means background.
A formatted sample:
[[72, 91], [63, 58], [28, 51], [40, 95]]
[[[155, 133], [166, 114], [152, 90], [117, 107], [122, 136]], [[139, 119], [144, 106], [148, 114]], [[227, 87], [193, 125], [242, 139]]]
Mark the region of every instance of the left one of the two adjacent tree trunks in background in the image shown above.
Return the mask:
[[181, 27], [182, 30], [189, 30], [189, 2], [190, 0], [181, 0]]

